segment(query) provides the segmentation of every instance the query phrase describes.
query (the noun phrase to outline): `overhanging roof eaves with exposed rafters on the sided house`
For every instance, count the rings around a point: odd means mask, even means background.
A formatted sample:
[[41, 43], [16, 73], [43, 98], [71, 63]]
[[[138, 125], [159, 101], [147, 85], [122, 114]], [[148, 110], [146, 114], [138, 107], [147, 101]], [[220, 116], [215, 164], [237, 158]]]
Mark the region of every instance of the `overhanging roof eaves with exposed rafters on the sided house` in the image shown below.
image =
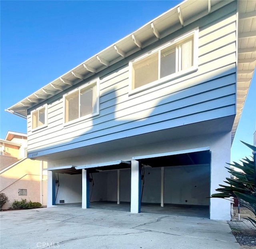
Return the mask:
[[[90, 76], [134, 54], [141, 48], [172, 34], [176, 30], [229, 4], [233, 0], [186, 0], [138, 30], [92, 56], [69, 72], [50, 82], [6, 111], [26, 117], [27, 110], [46, 99], [86, 80]], [[232, 139], [242, 113], [248, 88], [256, 66], [256, 1], [238, 1], [238, 72], [236, 119]]]

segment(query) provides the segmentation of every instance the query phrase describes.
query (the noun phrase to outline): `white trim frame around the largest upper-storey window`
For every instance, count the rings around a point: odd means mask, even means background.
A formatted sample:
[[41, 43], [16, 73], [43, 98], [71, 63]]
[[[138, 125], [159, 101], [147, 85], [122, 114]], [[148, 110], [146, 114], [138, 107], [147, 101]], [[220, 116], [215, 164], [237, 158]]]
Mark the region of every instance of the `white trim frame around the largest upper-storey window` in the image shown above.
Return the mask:
[[[158, 54], [160, 56], [160, 53], [159, 53], [160, 50], [167, 48], [168, 46], [171, 46], [172, 44], [180, 42], [180, 41], [186, 39], [187, 37], [191, 36], [192, 34], [194, 35], [194, 41], [193, 41], [193, 44], [194, 44], [193, 53], [194, 54], [193, 54], [193, 66], [192, 67], [190, 67], [186, 70], [176, 72], [174, 74], [170, 74], [163, 78], [158, 77], [158, 80], [150, 82], [144, 86], [140, 86], [138, 88], [132, 89], [132, 64], [134, 62], [138, 62], [156, 52], [158, 52]], [[142, 56], [135, 58], [134, 60], [131, 60], [129, 62], [129, 96], [133, 95], [133, 94], [137, 94], [137, 93], [145, 91], [145, 90], [148, 90], [152, 87], [159, 86], [160, 84], [166, 83], [170, 80], [175, 80], [175, 79], [185, 76], [187, 74], [196, 72], [198, 70], [198, 37], [199, 37], [199, 28], [197, 27], [194, 30], [191, 30], [191, 31], [183, 34], [182, 36], [179, 36], [178, 38], [175, 38], [175, 39], [171, 40], [170, 42], [167, 42], [166, 44], [163, 44], [162, 46], [160, 46], [158, 48], [154, 48], [153, 50], [150, 50], [146, 54], [143, 54]], [[158, 60], [159, 60], [159, 58], [158, 58]], [[176, 66], [177, 66], [177, 63], [176, 63]], [[160, 63], [158, 63], [158, 74], [160, 74]]]

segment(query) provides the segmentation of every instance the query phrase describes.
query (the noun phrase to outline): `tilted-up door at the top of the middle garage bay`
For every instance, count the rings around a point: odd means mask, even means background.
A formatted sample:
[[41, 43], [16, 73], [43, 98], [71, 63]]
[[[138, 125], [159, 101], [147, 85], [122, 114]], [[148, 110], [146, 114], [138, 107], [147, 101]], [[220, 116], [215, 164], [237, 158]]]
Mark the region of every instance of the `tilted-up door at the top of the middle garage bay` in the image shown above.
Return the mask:
[[112, 170], [112, 169], [128, 169], [131, 166], [130, 161], [112, 161], [107, 163], [89, 164], [84, 166], [76, 166], [76, 169], [97, 169], [97, 170]]

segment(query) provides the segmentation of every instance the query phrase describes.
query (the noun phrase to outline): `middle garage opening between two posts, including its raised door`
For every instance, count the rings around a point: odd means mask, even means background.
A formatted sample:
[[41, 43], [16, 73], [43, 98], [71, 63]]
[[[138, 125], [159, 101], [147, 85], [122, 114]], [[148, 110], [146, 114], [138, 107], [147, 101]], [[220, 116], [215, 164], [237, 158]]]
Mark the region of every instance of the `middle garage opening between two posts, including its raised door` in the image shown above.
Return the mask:
[[90, 208], [130, 211], [130, 161], [78, 166], [86, 169]]

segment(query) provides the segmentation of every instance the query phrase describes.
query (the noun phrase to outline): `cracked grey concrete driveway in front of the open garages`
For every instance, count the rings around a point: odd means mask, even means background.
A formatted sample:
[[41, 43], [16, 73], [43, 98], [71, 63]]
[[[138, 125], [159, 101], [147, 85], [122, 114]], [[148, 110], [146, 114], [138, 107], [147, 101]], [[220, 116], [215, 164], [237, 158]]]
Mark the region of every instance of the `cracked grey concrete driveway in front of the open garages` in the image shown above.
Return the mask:
[[50, 208], [0, 212], [1, 249], [240, 248], [228, 223], [166, 214]]

